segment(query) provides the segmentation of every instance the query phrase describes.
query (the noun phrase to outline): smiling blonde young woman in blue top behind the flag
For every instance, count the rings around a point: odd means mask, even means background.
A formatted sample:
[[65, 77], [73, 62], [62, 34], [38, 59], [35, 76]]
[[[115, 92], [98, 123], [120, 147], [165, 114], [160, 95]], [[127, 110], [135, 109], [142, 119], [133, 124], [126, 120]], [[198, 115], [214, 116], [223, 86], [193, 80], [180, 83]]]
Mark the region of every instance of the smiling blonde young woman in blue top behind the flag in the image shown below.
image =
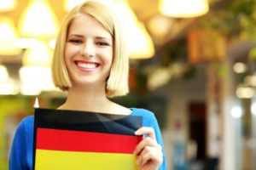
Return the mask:
[[[137, 164], [143, 170], [165, 170], [163, 142], [154, 114], [109, 99], [128, 93], [129, 64], [122, 36], [125, 32], [121, 31], [113, 11], [102, 3], [83, 3], [67, 14], [52, 64], [55, 86], [67, 91], [66, 102], [57, 109], [142, 116], [143, 127], [136, 134], [147, 137], [134, 150]], [[32, 169], [33, 122], [34, 117], [27, 116], [16, 130], [10, 170]]]

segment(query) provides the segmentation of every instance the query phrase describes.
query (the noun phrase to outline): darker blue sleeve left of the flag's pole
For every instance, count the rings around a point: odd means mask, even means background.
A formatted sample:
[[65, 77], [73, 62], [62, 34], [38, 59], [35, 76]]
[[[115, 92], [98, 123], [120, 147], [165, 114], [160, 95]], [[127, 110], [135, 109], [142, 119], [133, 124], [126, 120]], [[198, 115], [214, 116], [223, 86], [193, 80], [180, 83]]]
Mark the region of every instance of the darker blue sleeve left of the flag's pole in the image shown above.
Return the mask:
[[9, 154], [9, 170], [26, 170], [26, 134], [24, 120], [18, 125]]

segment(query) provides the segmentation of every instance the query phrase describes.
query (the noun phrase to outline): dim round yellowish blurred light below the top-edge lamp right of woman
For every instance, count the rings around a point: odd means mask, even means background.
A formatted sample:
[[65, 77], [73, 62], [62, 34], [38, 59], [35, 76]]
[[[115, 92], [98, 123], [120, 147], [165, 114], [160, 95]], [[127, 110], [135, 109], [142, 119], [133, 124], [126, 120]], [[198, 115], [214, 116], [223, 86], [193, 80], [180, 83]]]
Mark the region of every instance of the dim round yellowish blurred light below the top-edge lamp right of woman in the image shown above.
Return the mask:
[[172, 26], [172, 20], [162, 15], [155, 15], [148, 22], [148, 29], [153, 37], [162, 39], [166, 37]]

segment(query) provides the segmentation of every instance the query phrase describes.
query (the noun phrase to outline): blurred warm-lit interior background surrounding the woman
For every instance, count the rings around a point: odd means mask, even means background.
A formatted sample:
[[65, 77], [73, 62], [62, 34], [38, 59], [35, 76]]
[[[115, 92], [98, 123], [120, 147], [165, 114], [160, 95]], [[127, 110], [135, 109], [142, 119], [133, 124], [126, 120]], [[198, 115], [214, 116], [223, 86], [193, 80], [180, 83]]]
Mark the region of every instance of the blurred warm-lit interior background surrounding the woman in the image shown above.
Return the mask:
[[[256, 169], [256, 1], [102, 1], [131, 51], [131, 93], [113, 100], [154, 111], [168, 169]], [[63, 16], [81, 2], [0, 0], [0, 169], [35, 98], [65, 100], [49, 65]]]

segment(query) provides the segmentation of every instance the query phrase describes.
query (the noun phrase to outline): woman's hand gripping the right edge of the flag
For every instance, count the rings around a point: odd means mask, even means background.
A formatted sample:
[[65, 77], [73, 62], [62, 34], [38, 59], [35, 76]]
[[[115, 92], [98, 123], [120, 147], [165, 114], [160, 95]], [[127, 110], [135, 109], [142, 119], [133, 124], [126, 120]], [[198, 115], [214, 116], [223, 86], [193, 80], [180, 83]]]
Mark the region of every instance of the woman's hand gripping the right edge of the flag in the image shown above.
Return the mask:
[[136, 135], [145, 135], [144, 139], [137, 144], [134, 154], [137, 156], [137, 164], [141, 170], [157, 170], [163, 162], [163, 152], [160, 144], [157, 144], [154, 129], [141, 127]]

